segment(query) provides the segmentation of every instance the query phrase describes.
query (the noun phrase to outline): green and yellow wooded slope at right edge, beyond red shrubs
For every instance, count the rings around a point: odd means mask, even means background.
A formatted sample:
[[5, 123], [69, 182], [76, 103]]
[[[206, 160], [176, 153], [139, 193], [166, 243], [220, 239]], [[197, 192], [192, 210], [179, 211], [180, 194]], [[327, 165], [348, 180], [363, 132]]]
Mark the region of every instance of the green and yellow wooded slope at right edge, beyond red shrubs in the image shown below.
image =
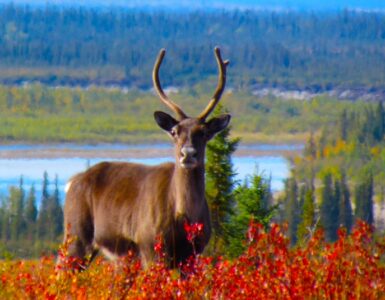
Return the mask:
[[357, 220], [383, 233], [384, 130], [379, 102], [361, 111], [343, 110], [335, 126], [309, 136], [303, 154], [293, 159], [280, 200], [292, 244], [306, 241], [318, 227], [336, 241], [338, 229], [350, 233]]

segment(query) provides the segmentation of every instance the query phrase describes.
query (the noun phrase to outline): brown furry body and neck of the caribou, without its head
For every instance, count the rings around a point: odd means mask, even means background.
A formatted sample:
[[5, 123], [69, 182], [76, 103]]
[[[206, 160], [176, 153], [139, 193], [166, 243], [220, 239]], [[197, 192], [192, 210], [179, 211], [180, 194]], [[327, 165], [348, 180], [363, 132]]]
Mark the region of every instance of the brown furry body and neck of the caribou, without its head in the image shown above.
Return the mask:
[[117, 256], [133, 250], [147, 265], [160, 235], [175, 266], [193, 254], [185, 221], [204, 225], [204, 234], [195, 241], [198, 253], [211, 232], [203, 169], [184, 170], [172, 163], [97, 164], [71, 180], [64, 215], [65, 235], [77, 237], [69, 254], [81, 259], [98, 248]]

